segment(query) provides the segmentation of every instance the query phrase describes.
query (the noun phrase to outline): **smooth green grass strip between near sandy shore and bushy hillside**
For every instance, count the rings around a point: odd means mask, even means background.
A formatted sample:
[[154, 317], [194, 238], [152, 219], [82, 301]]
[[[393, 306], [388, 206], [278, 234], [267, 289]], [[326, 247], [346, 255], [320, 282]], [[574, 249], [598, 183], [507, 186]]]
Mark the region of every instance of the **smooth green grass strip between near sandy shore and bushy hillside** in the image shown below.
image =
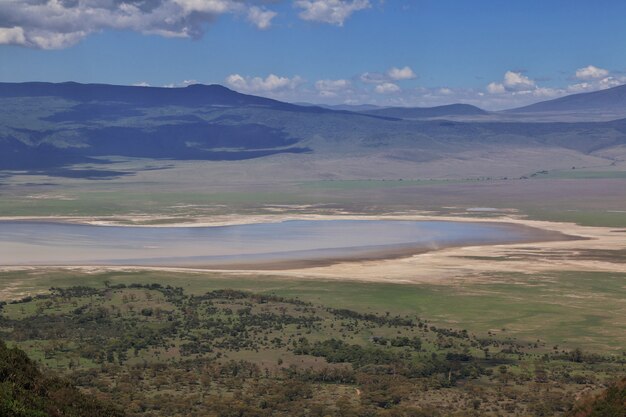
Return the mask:
[[[463, 285], [378, 284], [296, 280], [218, 273], [0, 273], [0, 289], [16, 293], [50, 286], [158, 282], [189, 293], [232, 288], [276, 294], [359, 311], [419, 314], [440, 326], [489, 331], [520, 340], [619, 352], [626, 346], [626, 273], [494, 274]], [[502, 331], [502, 329], [505, 329]]]

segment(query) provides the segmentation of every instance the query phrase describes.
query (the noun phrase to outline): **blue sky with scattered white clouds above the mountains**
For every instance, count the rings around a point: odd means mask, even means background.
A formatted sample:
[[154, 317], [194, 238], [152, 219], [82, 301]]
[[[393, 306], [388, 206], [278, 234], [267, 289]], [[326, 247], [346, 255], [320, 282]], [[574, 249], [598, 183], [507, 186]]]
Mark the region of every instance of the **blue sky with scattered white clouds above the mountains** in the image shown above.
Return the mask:
[[0, 81], [497, 110], [626, 83], [626, 1], [0, 0]]

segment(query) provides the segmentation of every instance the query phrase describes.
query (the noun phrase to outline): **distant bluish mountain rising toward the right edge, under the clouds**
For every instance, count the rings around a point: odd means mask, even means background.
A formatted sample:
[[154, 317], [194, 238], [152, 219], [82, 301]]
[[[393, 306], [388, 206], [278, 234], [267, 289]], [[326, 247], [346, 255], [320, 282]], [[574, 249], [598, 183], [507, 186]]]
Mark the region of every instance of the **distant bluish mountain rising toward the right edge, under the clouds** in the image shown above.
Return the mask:
[[626, 113], [626, 84], [591, 93], [572, 94], [530, 106], [507, 110], [510, 113], [542, 112], [615, 112]]

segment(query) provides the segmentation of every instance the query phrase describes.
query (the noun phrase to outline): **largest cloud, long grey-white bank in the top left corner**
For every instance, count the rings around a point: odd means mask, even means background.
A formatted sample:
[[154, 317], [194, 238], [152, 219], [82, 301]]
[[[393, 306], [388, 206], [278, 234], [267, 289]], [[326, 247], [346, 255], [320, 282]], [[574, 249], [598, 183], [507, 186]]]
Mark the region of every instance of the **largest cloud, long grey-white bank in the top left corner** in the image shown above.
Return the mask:
[[260, 29], [274, 12], [253, 0], [2, 0], [0, 44], [41, 49], [71, 46], [105, 29], [199, 38], [223, 14], [247, 16]]

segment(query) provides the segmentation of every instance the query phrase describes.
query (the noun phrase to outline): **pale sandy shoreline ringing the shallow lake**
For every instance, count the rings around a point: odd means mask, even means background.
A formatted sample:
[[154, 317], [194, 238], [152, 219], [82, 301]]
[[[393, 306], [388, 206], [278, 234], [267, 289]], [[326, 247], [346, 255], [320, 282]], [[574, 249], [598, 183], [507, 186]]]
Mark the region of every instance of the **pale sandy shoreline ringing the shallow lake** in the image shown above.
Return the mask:
[[[464, 245], [447, 247], [418, 253], [405, 253], [398, 257], [348, 260], [331, 264], [293, 263], [281, 268], [219, 269], [215, 267], [178, 267], [178, 266], [53, 266], [52, 268], [84, 270], [159, 270], [172, 272], [221, 272], [225, 276], [268, 275], [285, 278], [303, 279], [341, 279], [372, 282], [401, 283], [452, 283], [459, 280], [481, 280], [489, 274], [499, 272], [541, 273], [549, 271], [601, 271], [626, 273], [626, 263], [614, 262], [610, 257], [594, 259], [581, 256], [586, 251], [626, 250], [623, 228], [587, 227], [573, 223], [528, 220], [514, 215], [499, 217], [456, 217], [419, 214], [394, 215], [353, 215], [353, 214], [275, 214], [275, 215], [232, 215], [198, 218], [194, 222], [170, 224], [120, 224], [119, 222], [137, 221], [138, 217], [115, 219], [89, 217], [2, 217], [0, 221], [52, 221], [92, 225], [146, 226], [146, 227], [208, 227], [252, 223], [282, 222], [287, 220], [414, 220], [414, 221], [456, 221], [509, 223], [543, 231], [573, 236], [585, 240], [533, 240], [523, 243]], [[142, 221], [158, 221], [159, 218], [145, 216]], [[596, 253], [593, 252], [593, 253]], [[5, 266], [0, 270], [20, 270], [41, 266]]]

